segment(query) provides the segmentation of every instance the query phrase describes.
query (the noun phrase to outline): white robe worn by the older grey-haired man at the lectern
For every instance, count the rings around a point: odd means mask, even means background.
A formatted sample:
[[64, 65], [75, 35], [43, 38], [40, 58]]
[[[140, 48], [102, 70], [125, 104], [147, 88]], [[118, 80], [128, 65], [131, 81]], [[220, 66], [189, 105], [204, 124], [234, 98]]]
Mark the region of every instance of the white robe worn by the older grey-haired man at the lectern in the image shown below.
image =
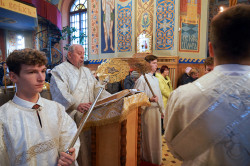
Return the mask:
[[[76, 109], [80, 103], [95, 100], [100, 87], [100, 83], [84, 66], [78, 69], [65, 61], [52, 70], [50, 81], [52, 99], [61, 103], [72, 118], [76, 118]], [[100, 99], [108, 96], [110, 94], [104, 90]]]

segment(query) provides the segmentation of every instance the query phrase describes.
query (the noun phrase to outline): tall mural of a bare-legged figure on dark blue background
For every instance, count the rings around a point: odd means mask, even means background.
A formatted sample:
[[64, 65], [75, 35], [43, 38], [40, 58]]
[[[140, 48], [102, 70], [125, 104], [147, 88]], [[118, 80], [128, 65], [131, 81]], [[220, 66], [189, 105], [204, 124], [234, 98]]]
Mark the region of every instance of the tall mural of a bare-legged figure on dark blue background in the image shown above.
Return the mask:
[[114, 53], [115, 0], [102, 0], [101, 52]]

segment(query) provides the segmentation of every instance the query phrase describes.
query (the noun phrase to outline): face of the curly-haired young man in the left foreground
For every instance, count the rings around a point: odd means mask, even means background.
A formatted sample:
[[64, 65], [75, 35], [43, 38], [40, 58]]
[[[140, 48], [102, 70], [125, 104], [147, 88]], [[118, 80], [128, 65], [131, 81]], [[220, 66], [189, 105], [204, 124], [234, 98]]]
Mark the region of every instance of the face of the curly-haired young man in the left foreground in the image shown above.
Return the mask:
[[19, 76], [10, 72], [11, 79], [17, 85], [18, 97], [34, 97], [42, 91], [45, 83], [45, 65], [21, 65]]

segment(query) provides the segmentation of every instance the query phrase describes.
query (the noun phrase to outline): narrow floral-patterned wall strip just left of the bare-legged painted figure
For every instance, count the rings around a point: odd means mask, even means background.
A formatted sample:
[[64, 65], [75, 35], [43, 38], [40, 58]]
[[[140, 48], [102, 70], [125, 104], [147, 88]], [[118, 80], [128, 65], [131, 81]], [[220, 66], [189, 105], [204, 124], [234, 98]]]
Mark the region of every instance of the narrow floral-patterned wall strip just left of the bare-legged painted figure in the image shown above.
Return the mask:
[[99, 47], [99, 24], [98, 24], [98, 0], [91, 0], [91, 54], [98, 54]]

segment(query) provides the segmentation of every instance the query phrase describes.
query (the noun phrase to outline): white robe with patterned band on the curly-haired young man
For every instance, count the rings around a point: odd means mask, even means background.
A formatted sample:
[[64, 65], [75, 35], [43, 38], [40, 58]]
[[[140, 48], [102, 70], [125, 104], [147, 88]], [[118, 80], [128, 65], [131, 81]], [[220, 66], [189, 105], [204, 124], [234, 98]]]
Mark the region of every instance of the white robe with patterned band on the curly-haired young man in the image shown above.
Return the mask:
[[[15, 96], [0, 107], [0, 165], [57, 165], [59, 153], [67, 150], [77, 132], [64, 107], [39, 97], [39, 122], [35, 103]], [[79, 139], [74, 148], [76, 156]]]

